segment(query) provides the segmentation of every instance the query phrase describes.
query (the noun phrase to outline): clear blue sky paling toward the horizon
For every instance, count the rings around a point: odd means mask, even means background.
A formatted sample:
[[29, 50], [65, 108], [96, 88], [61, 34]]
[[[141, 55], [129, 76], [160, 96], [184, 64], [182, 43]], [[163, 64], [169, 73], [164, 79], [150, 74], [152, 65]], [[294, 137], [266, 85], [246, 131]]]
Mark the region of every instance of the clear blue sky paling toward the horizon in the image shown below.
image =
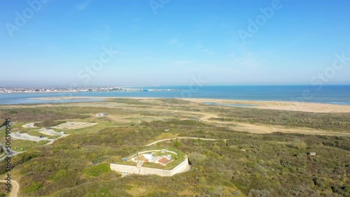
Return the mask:
[[350, 84], [347, 0], [2, 0], [0, 24], [0, 86]]

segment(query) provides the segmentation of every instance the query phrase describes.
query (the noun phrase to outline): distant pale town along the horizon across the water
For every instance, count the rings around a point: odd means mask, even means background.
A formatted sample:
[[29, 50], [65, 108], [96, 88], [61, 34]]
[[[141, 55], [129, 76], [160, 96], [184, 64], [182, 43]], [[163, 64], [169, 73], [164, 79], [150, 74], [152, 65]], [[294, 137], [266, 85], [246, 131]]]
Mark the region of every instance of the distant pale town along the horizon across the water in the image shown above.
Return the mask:
[[54, 93], [54, 92], [151, 92], [178, 91], [178, 89], [142, 89], [127, 87], [0, 87], [0, 94], [6, 93]]

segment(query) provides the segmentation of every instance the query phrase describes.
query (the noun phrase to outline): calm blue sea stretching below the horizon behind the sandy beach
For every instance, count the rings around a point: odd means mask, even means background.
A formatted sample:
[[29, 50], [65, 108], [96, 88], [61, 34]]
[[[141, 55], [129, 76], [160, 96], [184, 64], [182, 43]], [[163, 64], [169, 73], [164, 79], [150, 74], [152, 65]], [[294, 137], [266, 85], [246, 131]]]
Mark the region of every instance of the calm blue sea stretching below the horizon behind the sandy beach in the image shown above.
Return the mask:
[[[139, 87], [134, 87], [139, 88]], [[302, 101], [350, 105], [350, 85], [269, 85], [269, 86], [159, 86], [142, 89], [177, 89], [160, 92], [76, 92], [76, 93], [17, 93], [0, 94], [0, 105], [25, 103], [63, 103], [103, 101], [103, 99], [66, 99], [64, 101], [32, 100], [41, 97], [103, 96], [150, 98], [197, 98], [251, 101]]]

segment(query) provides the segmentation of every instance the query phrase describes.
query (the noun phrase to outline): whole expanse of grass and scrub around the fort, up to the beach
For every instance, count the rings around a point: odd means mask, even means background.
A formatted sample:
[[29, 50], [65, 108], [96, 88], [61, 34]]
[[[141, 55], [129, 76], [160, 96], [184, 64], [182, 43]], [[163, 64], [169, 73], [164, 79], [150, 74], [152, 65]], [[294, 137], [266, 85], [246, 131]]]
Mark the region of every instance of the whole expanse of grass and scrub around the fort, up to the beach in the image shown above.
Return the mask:
[[[45, 108], [51, 114], [45, 117], [48, 121], [98, 124], [67, 130], [71, 135], [52, 145], [13, 140], [13, 145], [27, 149], [12, 161], [21, 196], [350, 196], [349, 137], [246, 133], [228, 126], [244, 122], [331, 135], [350, 133], [349, 114], [231, 108], [178, 99], [19, 105], [11, 112], [0, 108], [0, 113], [14, 115], [13, 128], [25, 131], [19, 125], [43, 121], [38, 117]], [[109, 115], [95, 117], [97, 112]], [[145, 147], [181, 136], [228, 140], [177, 139]], [[121, 178], [109, 170], [109, 163], [125, 156], [162, 148], [187, 154], [190, 171], [173, 177]], [[1, 173], [5, 165], [0, 163]]]

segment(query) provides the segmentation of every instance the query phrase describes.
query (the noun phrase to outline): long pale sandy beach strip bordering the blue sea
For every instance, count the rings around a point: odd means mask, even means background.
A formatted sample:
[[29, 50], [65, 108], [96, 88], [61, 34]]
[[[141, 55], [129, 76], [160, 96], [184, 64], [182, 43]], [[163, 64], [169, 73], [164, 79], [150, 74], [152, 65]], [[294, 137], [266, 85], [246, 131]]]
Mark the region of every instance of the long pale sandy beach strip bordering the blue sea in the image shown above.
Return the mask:
[[[30, 98], [31, 100], [41, 101], [60, 101], [60, 100], [72, 100], [72, 99], [105, 99], [108, 102], [109, 99], [181, 99], [183, 101], [191, 101], [195, 103], [219, 103], [228, 105], [242, 105], [242, 108], [258, 108], [269, 110], [286, 110], [286, 111], [300, 111], [300, 112], [350, 112], [350, 105], [340, 105], [334, 103], [311, 103], [311, 102], [296, 102], [296, 101], [248, 101], [248, 100], [230, 100], [230, 99], [183, 99], [183, 98], [149, 98], [149, 97], [108, 97], [108, 96], [70, 96], [70, 97], [41, 97]], [[91, 101], [94, 102], [94, 101]], [[71, 103], [71, 102], [70, 102]], [[43, 103], [45, 104], [45, 103]], [[244, 106], [248, 105], [248, 106]], [[216, 105], [218, 107], [230, 108], [233, 106]]]

